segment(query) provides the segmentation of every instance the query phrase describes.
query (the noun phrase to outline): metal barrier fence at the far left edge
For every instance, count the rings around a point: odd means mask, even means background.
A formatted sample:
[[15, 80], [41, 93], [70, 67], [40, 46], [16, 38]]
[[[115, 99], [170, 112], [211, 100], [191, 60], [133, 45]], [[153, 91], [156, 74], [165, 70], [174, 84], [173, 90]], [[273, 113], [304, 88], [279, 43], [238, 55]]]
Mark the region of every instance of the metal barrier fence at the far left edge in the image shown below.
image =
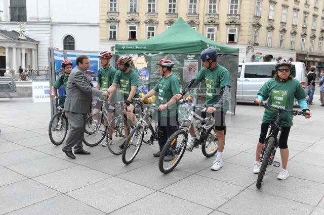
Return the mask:
[[16, 72], [13, 69], [0, 69], [0, 93], [12, 99], [11, 93], [16, 92]]

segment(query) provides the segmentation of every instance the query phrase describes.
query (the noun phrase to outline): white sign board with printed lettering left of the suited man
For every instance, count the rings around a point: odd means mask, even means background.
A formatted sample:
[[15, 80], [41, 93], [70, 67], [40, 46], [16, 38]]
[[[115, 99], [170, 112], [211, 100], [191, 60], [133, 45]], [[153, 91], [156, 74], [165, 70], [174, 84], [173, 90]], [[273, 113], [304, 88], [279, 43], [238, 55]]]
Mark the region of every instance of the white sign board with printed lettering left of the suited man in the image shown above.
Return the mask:
[[32, 100], [33, 102], [50, 102], [50, 82], [33, 81], [32, 82]]

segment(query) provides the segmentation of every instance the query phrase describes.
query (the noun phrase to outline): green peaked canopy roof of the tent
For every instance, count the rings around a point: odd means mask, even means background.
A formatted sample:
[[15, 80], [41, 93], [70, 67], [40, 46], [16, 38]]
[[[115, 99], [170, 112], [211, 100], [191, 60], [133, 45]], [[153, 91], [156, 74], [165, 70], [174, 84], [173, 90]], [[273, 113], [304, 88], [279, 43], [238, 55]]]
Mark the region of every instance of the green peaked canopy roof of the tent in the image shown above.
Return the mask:
[[150, 39], [116, 44], [116, 54], [129, 53], [194, 53], [199, 54], [207, 47], [215, 47], [219, 54], [238, 55], [238, 48], [215, 42], [194, 30], [182, 18], [170, 28]]

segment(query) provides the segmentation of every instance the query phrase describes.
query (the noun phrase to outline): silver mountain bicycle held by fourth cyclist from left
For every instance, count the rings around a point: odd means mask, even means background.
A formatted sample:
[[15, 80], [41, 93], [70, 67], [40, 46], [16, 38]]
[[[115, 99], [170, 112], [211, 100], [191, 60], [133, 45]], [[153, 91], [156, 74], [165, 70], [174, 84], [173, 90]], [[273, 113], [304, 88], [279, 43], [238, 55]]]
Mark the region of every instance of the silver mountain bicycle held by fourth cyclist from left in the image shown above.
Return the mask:
[[147, 132], [148, 129], [151, 131], [151, 136], [150, 139], [144, 143], [151, 145], [153, 144], [154, 140], [159, 140], [160, 137], [157, 123], [155, 123], [155, 128], [152, 125], [153, 111], [156, 111], [154, 109], [155, 104], [148, 105], [143, 103], [142, 101], [136, 101], [135, 99], [132, 100], [134, 103], [137, 103], [140, 106], [142, 106], [144, 111], [142, 112], [142, 115], [139, 117], [136, 127], [132, 130], [132, 132], [128, 136], [128, 139], [126, 141], [127, 144], [125, 144], [124, 146], [122, 159], [123, 159], [123, 163], [126, 165], [132, 163], [133, 160], [135, 159], [136, 155], [138, 154], [141, 148], [142, 142], [144, 142], [143, 141], [144, 133]]

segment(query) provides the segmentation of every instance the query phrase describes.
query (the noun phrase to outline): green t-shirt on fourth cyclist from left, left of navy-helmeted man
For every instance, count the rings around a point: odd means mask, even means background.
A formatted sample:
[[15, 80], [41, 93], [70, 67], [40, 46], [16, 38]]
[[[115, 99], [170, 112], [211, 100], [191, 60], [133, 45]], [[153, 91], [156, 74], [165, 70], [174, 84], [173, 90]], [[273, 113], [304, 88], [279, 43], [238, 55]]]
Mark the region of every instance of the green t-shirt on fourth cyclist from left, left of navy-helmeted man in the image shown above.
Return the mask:
[[[170, 75], [168, 78], [160, 78], [153, 88], [154, 91], [158, 92], [156, 105], [166, 104], [172, 96], [179, 93], [180, 82], [177, 76], [174, 74]], [[161, 116], [173, 117], [178, 113], [177, 103], [173, 103], [168, 106], [167, 109], [161, 112]]]

